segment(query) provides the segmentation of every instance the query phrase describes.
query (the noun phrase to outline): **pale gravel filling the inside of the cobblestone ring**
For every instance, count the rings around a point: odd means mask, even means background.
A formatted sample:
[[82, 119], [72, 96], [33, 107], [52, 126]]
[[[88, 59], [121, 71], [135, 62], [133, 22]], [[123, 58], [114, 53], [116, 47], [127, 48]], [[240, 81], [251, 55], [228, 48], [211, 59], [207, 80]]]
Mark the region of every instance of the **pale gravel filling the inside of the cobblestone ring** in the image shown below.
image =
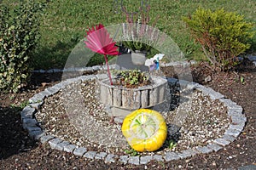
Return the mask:
[[[121, 124], [113, 122], [98, 102], [97, 82], [72, 83], [44, 100], [36, 118], [47, 134], [84, 146], [88, 150], [125, 155], [129, 149]], [[173, 111], [163, 111], [168, 126], [166, 143], [157, 154], [204, 146], [220, 138], [230, 125], [227, 109], [218, 101], [194, 90], [180, 99]], [[169, 148], [173, 141], [176, 147]], [[141, 153], [152, 155], [153, 153]]]

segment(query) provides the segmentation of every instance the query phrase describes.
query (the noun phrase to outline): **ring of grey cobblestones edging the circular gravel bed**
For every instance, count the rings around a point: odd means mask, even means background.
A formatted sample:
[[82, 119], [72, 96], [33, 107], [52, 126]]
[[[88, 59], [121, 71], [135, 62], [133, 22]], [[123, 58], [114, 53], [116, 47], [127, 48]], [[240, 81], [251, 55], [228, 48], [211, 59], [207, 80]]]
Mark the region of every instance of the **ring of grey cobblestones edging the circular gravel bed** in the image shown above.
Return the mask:
[[[180, 64], [180, 63], [179, 63]], [[166, 65], [169, 66], [169, 65]], [[94, 66], [86, 68], [86, 71], [99, 71], [105, 70], [106, 68], [101, 66]], [[71, 70], [70, 70], [71, 71]], [[78, 71], [72, 69], [72, 71]], [[81, 70], [79, 70], [81, 71]], [[236, 105], [235, 102], [230, 99], [225, 99], [223, 94], [219, 94], [212, 88], [207, 88], [196, 82], [187, 82], [183, 80], [177, 81], [175, 78], [167, 78], [169, 84], [179, 83], [182, 88], [189, 90], [198, 89], [203, 94], [209, 95], [211, 99], [218, 99], [222, 102], [228, 109], [228, 116], [230, 116], [230, 126], [226, 129], [224, 135], [221, 138], [214, 139], [211, 144], [206, 146], [196, 146], [195, 149], [183, 150], [181, 152], [168, 151], [164, 156], [153, 155], [153, 156], [117, 156], [107, 152], [97, 152], [96, 150], [87, 150], [85, 147], [79, 147], [75, 144], [70, 144], [65, 140], [55, 138], [55, 136], [46, 134], [42, 128], [38, 125], [37, 120], [34, 118], [34, 114], [37, 113], [41, 105], [44, 104], [44, 99], [56, 94], [65, 88], [67, 85], [73, 82], [84, 82], [92, 81], [96, 79], [102, 79], [107, 77], [105, 74], [89, 75], [70, 78], [62, 81], [50, 88], [46, 88], [44, 91], [35, 94], [29, 99], [29, 104], [20, 112], [22, 126], [29, 133], [32, 139], [39, 140], [42, 144], [48, 143], [51, 149], [62, 150], [69, 153], [73, 153], [75, 156], [83, 156], [88, 159], [98, 159], [105, 162], [115, 162], [121, 161], [123, 163], [131, 163], [134, 165], [147, 164], [149, 161], [172, 161], [183, 158], [188, 158], [190, 156], [195, 156], [196, 154], [207, 154], [213, 151], [221, 150], [225, 145], [233, 142], [243, 130], [247, 117], [242, 113], [242, 108], [240, 105]]]

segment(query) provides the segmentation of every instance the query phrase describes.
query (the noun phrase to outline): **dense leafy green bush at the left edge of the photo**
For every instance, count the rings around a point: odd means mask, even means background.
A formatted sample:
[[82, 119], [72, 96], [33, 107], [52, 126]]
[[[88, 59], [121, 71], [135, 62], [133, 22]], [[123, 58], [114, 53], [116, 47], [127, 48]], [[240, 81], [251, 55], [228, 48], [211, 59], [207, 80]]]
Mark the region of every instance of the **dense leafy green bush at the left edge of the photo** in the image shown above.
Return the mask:
[[[29, 3], [30, 2], [30, 3]], [[0, 8], [0, 89], [17, 92], [29, 80], [31, 54], [38, 42], [38, 12], [43, 4], [20, 2]]]

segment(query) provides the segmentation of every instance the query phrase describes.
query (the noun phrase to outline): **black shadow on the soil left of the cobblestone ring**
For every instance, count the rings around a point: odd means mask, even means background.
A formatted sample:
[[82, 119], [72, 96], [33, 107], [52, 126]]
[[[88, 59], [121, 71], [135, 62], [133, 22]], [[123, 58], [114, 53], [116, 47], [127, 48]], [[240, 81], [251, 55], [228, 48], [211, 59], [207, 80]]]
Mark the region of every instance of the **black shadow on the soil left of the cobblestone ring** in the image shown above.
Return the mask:
[[20, 111], [20, 107], [0, 105], [0, 160], [38, 146], [23, 129]]

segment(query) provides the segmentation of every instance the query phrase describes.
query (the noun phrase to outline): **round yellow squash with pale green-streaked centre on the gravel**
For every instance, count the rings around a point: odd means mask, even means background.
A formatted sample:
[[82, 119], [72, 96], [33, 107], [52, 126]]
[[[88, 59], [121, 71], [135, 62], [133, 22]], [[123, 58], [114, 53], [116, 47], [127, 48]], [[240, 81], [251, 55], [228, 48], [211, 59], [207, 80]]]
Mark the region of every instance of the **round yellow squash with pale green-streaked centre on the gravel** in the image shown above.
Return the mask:
[[158, 150], [166, 140], [166, 121], [157, 111], [139, 109], [125, 117], [122, 133], [134, 150]]

